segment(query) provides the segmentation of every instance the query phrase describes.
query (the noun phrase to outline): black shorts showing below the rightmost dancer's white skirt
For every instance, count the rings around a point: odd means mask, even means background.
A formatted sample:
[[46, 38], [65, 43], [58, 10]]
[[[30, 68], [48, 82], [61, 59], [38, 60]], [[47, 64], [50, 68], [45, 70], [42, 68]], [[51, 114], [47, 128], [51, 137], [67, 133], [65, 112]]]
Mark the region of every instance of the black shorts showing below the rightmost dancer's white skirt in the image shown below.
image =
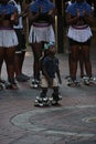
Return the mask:
[[92, 39], [88, 39], [86, 42], [77, 42], [77, 41], [74, 41], [72, 39], [68, 39], [68, 42], [70, 42], [70, 45], [90, 45], [90, 42], [92, 42]]

